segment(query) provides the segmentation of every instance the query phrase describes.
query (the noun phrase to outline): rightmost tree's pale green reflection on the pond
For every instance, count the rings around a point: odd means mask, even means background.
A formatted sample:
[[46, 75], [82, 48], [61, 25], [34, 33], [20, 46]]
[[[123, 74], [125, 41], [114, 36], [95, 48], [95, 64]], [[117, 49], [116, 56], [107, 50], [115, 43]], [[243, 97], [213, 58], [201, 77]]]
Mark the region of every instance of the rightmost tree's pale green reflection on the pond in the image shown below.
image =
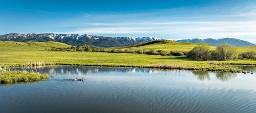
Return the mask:
[[222, 82], [228, 81], [229, 79], [236, 78], [237, 73], [231, 72], [217, 72], [216, 78], [221, 80]]

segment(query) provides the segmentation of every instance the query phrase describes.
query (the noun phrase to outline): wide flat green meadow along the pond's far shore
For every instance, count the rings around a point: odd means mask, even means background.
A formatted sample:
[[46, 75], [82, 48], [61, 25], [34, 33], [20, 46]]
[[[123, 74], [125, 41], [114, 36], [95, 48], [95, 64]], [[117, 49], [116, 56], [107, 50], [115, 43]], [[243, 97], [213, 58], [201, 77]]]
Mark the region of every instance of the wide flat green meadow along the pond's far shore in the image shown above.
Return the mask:
[[[149, 67], [149, 68], [176, 68], [187, 70], [225, 70], [222, 64], [256, 64], [252, 60], [214, 61], [193, 60], [186, 56], [159, 56], [130, 53], [102, 53], [102, 52], [64, 52], [64, 51], [23, 51], [6, 52], [0, 56], [1, 67], [17, 66], [45, 66], [45, 65], [81, 65], [81, 66], [117, 66], [117, 67]], [[98, 64], [98, 65], [97, 65]], [[237, 70], [240, 72], [241, 70]]]

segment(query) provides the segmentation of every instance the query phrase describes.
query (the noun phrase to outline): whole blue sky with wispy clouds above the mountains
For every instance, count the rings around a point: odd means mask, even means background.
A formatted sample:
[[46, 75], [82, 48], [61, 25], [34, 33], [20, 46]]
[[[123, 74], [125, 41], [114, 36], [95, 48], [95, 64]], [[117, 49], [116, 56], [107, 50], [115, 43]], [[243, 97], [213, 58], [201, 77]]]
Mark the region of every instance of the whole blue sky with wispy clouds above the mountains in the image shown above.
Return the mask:
[[0, 35], [8, 33], [256, 43], [256, 0], [1, 0]]

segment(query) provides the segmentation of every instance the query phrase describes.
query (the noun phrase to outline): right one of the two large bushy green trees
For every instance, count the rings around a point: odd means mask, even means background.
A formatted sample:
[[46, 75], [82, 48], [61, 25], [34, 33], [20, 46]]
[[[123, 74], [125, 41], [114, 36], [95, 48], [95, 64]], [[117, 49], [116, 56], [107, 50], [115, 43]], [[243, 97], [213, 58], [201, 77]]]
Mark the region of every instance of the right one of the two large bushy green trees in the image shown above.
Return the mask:
[[220, 60], [231, 60], [236, 54], [236, 48], [225, 42], [217, 45], [216, 50], [220, 54]]

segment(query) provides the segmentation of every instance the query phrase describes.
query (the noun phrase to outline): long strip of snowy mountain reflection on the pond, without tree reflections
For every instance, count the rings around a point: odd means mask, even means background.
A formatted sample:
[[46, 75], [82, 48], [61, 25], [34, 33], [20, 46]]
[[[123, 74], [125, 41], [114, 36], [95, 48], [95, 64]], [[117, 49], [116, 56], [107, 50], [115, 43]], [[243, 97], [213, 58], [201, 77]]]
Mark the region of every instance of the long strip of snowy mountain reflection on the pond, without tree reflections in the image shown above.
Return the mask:
[[[172, 72], [174, 76], [188, 76], [190, 71], [176, 70], [176, 69], [158, 69], [158, 68], [120, 68], [120, 67], [94, 67], [94, 66], [45, 66], [40, 68], [35, 67], [22, 67], [22, 68], [9, 68], [8, 70], [26, 70], [28, 72], [47, 73], [49, 75], [60, 74], [92, 74], [104, 72], [123, 72], [123, 73], [136, 73], [143, 72], [149, 74], [164, 74], [168, 75]], [[174, 73], [174, 74], [173, 74]]]

